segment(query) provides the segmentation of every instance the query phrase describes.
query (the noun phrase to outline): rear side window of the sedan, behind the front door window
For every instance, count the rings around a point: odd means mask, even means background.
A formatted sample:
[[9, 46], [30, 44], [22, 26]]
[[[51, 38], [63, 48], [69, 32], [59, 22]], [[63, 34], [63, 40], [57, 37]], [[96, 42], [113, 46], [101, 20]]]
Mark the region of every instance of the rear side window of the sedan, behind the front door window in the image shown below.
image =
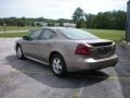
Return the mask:
[[55, 36], [55, 33], [53, 33], [50, 29], [43, 29], [40, 39], [52, 39]]

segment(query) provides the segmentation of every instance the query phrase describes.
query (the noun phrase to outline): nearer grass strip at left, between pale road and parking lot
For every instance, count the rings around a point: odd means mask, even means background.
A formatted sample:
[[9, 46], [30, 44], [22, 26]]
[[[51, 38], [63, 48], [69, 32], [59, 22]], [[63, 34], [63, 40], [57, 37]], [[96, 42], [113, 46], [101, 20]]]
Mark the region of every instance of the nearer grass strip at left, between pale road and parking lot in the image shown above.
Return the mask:
[[0, 34], [0, 37], [22, 37], [28, 35], [28, 33], [5, 33], [5, 34]]

